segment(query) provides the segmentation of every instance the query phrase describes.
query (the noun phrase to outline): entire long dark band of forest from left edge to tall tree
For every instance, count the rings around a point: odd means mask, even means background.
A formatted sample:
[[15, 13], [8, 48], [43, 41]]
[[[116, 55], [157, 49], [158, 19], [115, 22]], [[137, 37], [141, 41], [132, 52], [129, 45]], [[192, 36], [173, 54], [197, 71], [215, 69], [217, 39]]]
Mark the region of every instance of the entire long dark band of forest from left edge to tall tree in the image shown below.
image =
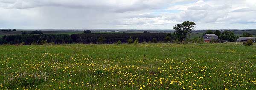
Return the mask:
[[56, 34], [56, 35], [8, 35], [0, 38], [0, 44], [113, 44], [117, 41], [127, 43], [128, 39], [139, 42], [160, 42], [166, 38], [166, 33], [84, 33], [84, 34]]

